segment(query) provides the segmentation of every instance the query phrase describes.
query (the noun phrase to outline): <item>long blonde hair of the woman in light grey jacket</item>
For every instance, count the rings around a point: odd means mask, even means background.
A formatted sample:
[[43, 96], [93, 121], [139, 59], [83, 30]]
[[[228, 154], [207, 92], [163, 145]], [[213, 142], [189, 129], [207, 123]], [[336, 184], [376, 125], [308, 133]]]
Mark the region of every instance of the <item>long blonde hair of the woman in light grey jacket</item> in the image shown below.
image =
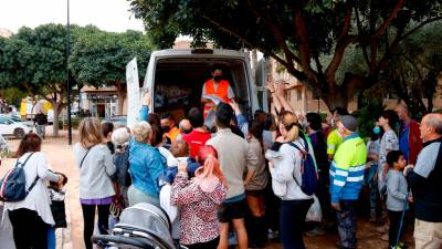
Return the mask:
[[85, 117], [80, 122], [80, 143], [84, 148], [102, 144], [104, 142], [102, 125], [96, 117]]

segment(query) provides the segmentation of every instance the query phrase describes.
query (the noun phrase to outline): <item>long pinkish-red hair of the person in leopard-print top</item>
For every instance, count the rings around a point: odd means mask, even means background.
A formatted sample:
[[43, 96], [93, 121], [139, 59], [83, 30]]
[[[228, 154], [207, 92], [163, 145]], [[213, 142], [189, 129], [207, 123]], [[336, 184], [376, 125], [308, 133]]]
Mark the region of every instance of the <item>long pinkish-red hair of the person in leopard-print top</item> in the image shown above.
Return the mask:
[[[201, 189], [211, 191], [213, 190], [213, 183], [210, 183], [210, 179], [215, 176], [221, 183], [227, 187], [228, 183], [220, 169], [220, 164], [218, 162], [218, 153], [217, 149], [213, 146], [206, 145], [200, 148], [197, 155], [198, 163], [202, 165], [194, 172], [194, 176], [197, 180], [200, 183]], [[204, 189], [204, 181], [208, 183], [208, 185], [212, 186], [206, 186], [208, 189]]]

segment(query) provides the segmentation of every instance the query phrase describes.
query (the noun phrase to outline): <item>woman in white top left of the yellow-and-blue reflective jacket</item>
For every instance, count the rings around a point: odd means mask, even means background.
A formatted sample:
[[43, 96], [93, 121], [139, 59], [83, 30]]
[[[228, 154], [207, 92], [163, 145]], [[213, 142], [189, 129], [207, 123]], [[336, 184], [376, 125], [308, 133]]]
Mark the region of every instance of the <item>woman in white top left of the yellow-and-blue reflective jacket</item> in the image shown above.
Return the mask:
[[[284, 249], [304, 249], [303, 227], [308, 208], [313, 204], [313, 197], [305, 195], [297, 184], [302, 181], [303, 156], [290, 143], [304, 148], [306, 138], [301, 137], [303, 135], [293, 113], [284, 113], [280, 121], [280, 132], [284, 143], [277, 153], [266, 153], [266, 158], [271, 160], [273, 190], [281, 198], [281, 240]], [[308, 149], [313, 155], [312, 146]]]

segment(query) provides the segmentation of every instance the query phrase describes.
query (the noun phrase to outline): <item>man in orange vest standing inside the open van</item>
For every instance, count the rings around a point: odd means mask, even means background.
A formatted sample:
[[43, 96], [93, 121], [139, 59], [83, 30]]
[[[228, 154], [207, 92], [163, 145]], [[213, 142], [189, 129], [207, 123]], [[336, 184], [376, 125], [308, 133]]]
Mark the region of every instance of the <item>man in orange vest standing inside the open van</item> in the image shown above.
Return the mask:
[[202, 86], [201, 103], [204, 105], [204, 120], [208, 117], [210, 111], [213, 111], [219, 104], [215, 102], [224, 102], [229, 104], [234, 97], [229, 81], [222, 79], [222, 66], [214, 64], [211, 74], [212, 79], [204, 82], [204, 85]]

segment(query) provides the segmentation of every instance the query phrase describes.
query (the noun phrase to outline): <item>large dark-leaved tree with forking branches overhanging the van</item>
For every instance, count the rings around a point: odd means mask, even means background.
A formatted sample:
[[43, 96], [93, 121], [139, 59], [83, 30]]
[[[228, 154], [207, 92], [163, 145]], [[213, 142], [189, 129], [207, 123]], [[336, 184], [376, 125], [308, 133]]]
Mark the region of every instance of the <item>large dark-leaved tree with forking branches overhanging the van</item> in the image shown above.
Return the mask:
[[[399, 44], [442, 19], [442, 1], [414, 0], [131, 0], [152, 40], [169, 48], [179, 34], [194, 45], [259, 49], [330, 107], [371, 87]], [[365, 70], [337, 72], [352, 48]]]

